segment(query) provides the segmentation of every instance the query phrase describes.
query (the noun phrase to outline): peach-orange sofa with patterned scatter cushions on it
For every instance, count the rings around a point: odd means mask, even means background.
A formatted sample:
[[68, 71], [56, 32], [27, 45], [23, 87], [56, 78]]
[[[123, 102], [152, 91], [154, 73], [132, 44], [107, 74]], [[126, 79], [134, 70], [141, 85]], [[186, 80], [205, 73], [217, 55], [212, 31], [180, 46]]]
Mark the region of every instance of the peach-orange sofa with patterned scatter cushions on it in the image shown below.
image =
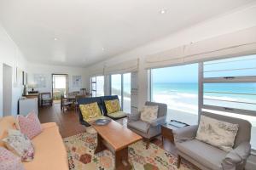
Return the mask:
[[[32, 139], [35, 147], [33, 161], [23, 162], [26, 170], [68, 170], [67, 151], [59, 127], [55, 122], [43, 123], [43, 132]], [[16, 128], [15, 117], [0, 118], [0, 139], [7, 136], [9, 128]], [[0, 147], [4, 147], [0, 142]]]

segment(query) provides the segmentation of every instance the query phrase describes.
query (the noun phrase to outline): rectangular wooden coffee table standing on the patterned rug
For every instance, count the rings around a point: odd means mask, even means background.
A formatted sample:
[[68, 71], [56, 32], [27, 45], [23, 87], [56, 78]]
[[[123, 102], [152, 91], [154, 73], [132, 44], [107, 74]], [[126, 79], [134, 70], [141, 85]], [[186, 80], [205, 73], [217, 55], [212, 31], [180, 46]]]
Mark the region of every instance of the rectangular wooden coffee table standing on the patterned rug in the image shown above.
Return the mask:
[[111, 150], [115, 157], [115, 169], [131, 170], [131, 164], [128, 161], [128, 145], [143, 138], [113, 120], [108, 125], [93, 124], [92, 127], [96, 129], [98, 137], [95, 154], [102, 150]]

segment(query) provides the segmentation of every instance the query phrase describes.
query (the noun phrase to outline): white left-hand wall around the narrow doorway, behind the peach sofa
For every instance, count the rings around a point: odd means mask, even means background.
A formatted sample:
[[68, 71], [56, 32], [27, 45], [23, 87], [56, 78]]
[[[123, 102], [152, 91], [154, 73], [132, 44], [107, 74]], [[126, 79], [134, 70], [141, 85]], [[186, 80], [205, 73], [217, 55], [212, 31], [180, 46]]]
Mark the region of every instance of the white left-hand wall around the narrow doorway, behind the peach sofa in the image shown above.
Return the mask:
[[18, 99], [22, 95], [23, 86], [15, 84], [16, 67], [26, 71], [26, 59], [20, 53], [15, 42], [0, 25], [0, 116], [3, 116], [3, 64], [13, 69], [12, 76], [12, 115], [17, 114]]

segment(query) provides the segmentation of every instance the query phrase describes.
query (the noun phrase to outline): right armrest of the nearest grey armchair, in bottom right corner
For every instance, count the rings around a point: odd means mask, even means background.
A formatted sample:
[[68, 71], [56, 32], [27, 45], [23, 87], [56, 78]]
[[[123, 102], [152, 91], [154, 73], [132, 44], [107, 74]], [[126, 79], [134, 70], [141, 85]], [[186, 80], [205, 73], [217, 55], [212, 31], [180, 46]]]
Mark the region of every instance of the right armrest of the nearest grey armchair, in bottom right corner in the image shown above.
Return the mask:
[[237, 165], [245, 164], [247, 157], [251, 152], [251, 144], [242, 142], [236, 149], [231, 150], [224, 158], [222, 166], [224, 169], [236, 168]]

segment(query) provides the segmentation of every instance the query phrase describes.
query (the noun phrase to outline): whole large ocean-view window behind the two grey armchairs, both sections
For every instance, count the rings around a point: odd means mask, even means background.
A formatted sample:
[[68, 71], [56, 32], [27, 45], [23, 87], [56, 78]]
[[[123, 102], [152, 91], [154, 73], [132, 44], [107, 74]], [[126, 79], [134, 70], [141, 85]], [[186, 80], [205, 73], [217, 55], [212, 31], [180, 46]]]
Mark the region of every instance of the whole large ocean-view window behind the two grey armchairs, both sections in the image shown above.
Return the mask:
[[256, 149], [256, 55], [152, 69], [151, 100], [168, 105], [167, 121], [196, 124], [201, 111], [245, 119]]

